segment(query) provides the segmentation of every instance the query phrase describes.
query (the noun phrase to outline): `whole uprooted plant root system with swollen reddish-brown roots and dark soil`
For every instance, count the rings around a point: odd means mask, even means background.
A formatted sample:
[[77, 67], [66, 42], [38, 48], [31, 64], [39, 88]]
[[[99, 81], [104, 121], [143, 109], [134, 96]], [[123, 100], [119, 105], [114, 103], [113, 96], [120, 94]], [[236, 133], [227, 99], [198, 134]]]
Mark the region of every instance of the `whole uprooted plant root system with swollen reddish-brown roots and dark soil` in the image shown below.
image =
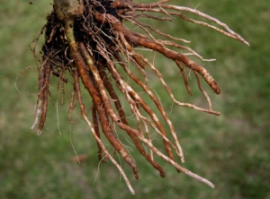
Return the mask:
[[[225, 23], [195, 9], [167, 4], [168, 2], [168, 0], [161, 0], [153, 4], [138, 4], [131, 0], [55, 0], [53, 11], [47, 16], [47, 24], [40, 33], [41, 35], [44, 32], [45, 43], [41, 50], [40, 64], [37, 62], [40, 72], [39, 92], [36, 117], [31, 128], [38, 125], [38, 134], [40, 135], [45, 124], [51, 75], [58, 76], [59, 84], [62, 85], [58, 88], [64, 88], [65, 83], [70, 83], [67, 82], [65, 76], [67, 73], [71, 74], [74, 91], [70, 98], [68, 119], [71, 122], [72, 111], [78, 104], [81, 115], [97, 143], [99, 160], [112, 161], [120, 170], [132, 194], [134, 191], [130, 186], [129, 179], [121, 169], [120, 163], [114, 159], [113, 153], [110, 153], [108, 146], [104, 144], [104, 139], [107, 139], [114, 149], [113, 152], [117, 152], [121, 156], [133, 170], [134, 177], [138, 179], [139, 172], [136, 162], [131, 157], [127, 147], [121, 143], [115, 132], [115, 126], [119, 126], [119, 129], [130, 137], [132, 145], [153, 168], [158, 170], [161, 177], [166, 177], [166, 173], [154, 160], [155, 157], [166, 160], [178, 172], [181, 171], [213, 187], [211, 182], [184, 169], [177, 163], [179, 160], [184, 163], [183, 151], [174, 125], [162, 107], [162, 99], [160, 101], [157, 94], [148, 86], [147, 70], [151, 70], [157, 75], [155, 81], [161, 82], [167, 91], [168, 98], [172, 99], [176, 105], [220, 115], [219, 112], [211, 109], [211, 99], [203, 90], [201, 79], [207, 82], [217, 94], [220, 93], [218, 83], [202, 65], [193, 62], [190, 56], [197, 56], [203, 61], [212, 60], [203, 59], [193, 49], [179, 44], [189, 41], [175, 38], [139, 21], [139, 19], [148, 18], [153, 21], [171, 22], [175, 17], [180, 17], [184, 21], [220, 31], [220, 33], [248, 45], [245, 39], [230, 30]], [[193, 20], [184, 13], [198, 15], [211, 24]], [[130, 23], [137, 29], [128, 29], [124, 25], [126, 23]], [[157, 39], [158, 36], [164, 39]], [[32, 48], [37, 60], [35, 47], [39, 38], [34, 40]], [[186, 90], [191, 94], [187, 74], [184, 72], [184, 67], [187, 67], [195, 75], [198, 87], [208, 102], [208, 108], [200, 108], [194, 104], [175, 99], [162, 74], [153, 64], [153, 60], [150, 61], [140, 54], [139, 52], [143, 51], [139, 51], [138, 48], [152, 51], [154, 55], [157, 52], [164, 56], [164, 59], [172, 60], [175, 66], [180, 69]], [[166, 65], [166, 67], [172, 66]], [[138, 70], [139, 74], [134, 73], [134, 68]], [[123, 72], [133, 81], [132, 85], [137, 84], [141, 90], [148, 94], [149, 99], [157, 107], [155, 110], [150, 108], [146, 100], [139, 95], [139, 91], [136, 91], [134, 86], [132, 88], [129, 82], [122, 77]], [[80, 82], [82, 82], [83, 88]], [[90, 96], [83, 96], [82, 89], [86, 90]], [[124, 96], [124, 99], [120, 98], [120, 94]], [[93, 100], [92, 107], [85, 105], [84, 98]], [[137, 126], [129, 124], [123, 104], [127, 104], [130, 108]], [[87, 113], [86, 110], [89, 108], [91, 111]], [[166, 132], [164, 124], [168, 126], [169, 132]], [[152, 137], [155, 134], [160, 136], [166, 152], [163, 152], [163, 149], [158, 149], [152, 143]]]

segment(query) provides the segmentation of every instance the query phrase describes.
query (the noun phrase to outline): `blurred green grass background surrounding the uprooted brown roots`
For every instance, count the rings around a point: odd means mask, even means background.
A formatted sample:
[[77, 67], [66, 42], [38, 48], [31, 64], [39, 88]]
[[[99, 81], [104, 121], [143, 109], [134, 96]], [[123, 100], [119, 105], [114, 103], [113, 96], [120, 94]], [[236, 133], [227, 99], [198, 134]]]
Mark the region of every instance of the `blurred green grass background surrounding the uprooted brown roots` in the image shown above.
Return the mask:
[[[35, 3], [49, 13], [48, 1]], [[181, 20], [162, 26], [156, 23], [174, 36], [192, 40], [189, 46], [202, 56], [217, 58], [216, 62], [204, 65], [220, 83], [220, 96], [211, 94], [211, 99], [213, 108], [222, 115], [214, 117], [176, 106], [170, 114], [184, 148], [184, 166], [210, 179], [216, 187], [211, 189], [177, 174], [162, 161], [167, 177], [161, 178], [133, 152], [140, 179], [136, 181], [128, 174], [136, 191], [135, 196], [130, 195], [112, 163], [99, 165], [92, 135], [78, 111], [73, 117], [76, 125], [67, 123], [68, 88], [65, 105], [58, 106], [58, 120], [56, 89], [52, 88], [54, 106], [49, 105], [46, 129], [40, 137], [32, 132], [37, 71], [33, 67], [18, 79], [22, 94], [16, 91], [14, 82], [20, 71], [34, 66], [28, 45], [37, 37], [46, 16], [26, 1], [4, 1], [0, 6], [0, 198], [270, 198], [269, 2], [172, 3], [193, 8], [199, 5], [198, 10], [226, 22], [250, 43], [246, 47], [213, 30]], [[195, 88], [194, 97], [187, 96], [174, 65], [160, 57], [156, 65], [178, 99], [203, 105]], [[166, 92], [154, 76], [151, 78], [164, 107], [171, 111]], [[86, 103], [90, 102], [91, 99]], [[88, 155], [85, 162], [77, 164], [70, 160], [75, 156], [70, 139], [78, 154]], [[123, 168], [129, 173], [126, 165]]]

